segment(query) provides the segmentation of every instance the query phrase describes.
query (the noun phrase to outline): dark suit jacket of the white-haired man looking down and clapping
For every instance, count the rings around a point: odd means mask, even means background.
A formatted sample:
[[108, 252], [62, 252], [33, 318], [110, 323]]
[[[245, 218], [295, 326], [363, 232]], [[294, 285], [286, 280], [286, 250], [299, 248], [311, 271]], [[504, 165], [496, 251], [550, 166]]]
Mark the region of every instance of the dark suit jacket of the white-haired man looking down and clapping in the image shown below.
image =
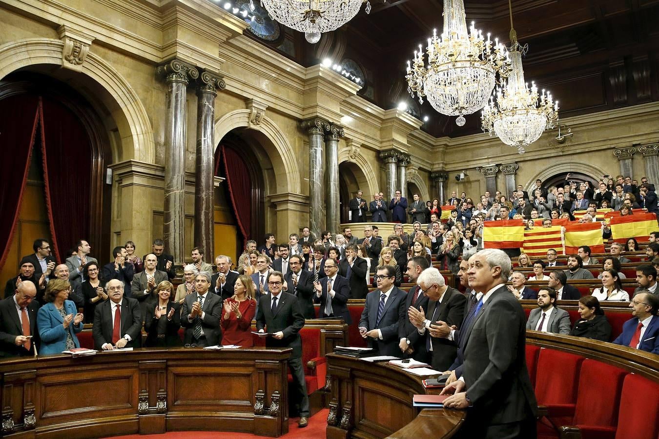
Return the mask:
[[[467, 298], [461, 292], [449, 287], [442, 297], [442, 303], [438, 303], [436, 300], [428, 302], [426, 319], [432, 322], [443, 321], [449, 326], [453, 324], [459, 326], [465, 315], [466, 301]], [[430, 337], [430, 332], [426, 330], [425, 335]], [[432, 368], [437, 371], [447, 370], [455, 361], [457, 346], [447, 338], [430, 337], [430, 342], [432, 343]]]

